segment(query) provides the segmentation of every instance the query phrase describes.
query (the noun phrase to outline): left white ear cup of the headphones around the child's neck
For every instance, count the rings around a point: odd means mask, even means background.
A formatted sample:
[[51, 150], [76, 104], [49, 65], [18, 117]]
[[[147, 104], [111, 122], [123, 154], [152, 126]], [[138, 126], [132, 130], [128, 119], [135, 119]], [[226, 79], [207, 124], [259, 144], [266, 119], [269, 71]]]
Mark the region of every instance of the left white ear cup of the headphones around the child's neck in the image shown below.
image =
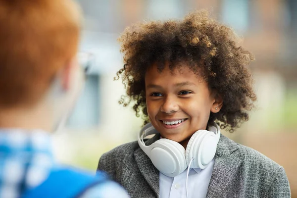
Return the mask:
[[160, 139], [152, 144], [149, 158], [153, 165], [164, 175], [175, 177], [187, 168], [186, 150], [179, 143]]

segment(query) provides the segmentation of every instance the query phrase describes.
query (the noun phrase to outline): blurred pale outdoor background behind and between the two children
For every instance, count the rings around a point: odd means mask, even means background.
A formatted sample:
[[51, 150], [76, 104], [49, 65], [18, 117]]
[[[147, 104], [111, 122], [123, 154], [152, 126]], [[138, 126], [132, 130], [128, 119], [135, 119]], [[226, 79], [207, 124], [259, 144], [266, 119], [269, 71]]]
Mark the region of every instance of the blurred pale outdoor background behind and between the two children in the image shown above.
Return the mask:
[[125, 27], [207, 9], [244, 38], [256, 58], [250, 65], [256, 108], [239, 130], [224, 134], [284, 166], [297, 197], [297, 0], [76, 1], [85, 14], [80, 59], [90, 69], [67, 128], [54, 137], [61, 162], [95, 172], [102, 153], [136, 140], [142, 120], [118, 103], [125, 90], [113, 81], [123, 64], [116, 40]]

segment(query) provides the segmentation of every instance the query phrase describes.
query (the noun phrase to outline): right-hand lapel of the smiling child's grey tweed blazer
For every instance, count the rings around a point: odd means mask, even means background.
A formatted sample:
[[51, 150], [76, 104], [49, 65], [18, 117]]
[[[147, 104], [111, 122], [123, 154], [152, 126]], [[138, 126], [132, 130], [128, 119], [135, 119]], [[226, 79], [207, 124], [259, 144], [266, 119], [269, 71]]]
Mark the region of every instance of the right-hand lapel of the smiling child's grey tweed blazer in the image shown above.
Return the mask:
[[220, 198], [227, 190], [228, 184], [236, 177], [241, 164], [235, 142], [221, 135], [206, 198]]

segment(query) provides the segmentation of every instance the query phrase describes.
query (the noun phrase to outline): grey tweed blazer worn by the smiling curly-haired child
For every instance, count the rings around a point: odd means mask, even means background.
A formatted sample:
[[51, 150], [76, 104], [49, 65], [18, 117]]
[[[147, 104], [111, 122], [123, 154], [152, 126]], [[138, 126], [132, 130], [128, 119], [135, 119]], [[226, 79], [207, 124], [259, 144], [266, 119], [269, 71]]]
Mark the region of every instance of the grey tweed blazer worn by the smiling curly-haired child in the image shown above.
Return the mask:
[[[160, 138], [146, 140], [150, 145]], [[98, 165], [131, 198], [158, 198], [159, 171], [137, 142], [104, 153]], [[271, 159], [221, 135], [206, 198], [290, 198], [285, 170]]]

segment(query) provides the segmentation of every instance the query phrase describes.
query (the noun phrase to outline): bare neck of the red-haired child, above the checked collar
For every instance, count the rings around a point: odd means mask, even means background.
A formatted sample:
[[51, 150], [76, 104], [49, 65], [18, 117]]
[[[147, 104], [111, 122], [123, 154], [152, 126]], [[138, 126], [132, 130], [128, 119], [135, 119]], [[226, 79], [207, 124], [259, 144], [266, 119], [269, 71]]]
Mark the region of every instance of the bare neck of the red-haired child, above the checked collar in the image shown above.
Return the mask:
[[1, 108], [0, 128], [52, 131], [52, 110], [45, 102], [35, 106]]

